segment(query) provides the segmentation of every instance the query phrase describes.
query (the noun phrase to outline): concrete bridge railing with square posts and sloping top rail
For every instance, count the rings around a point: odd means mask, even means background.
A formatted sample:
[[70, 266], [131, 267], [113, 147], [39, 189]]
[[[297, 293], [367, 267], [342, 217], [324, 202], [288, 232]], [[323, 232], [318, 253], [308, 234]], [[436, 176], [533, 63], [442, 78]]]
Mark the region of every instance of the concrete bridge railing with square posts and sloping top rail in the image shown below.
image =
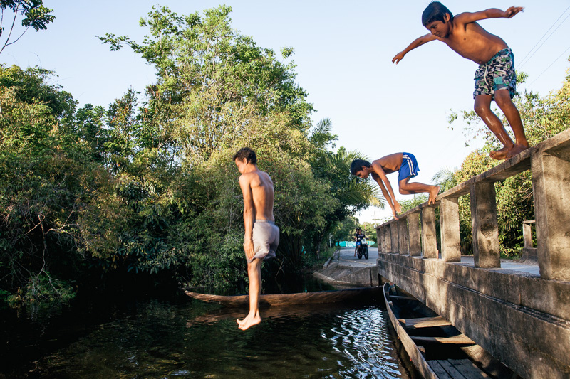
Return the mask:
[[[532, 171], [537, 258], [543, 279], [570, 281], [570, 129], [376, 227], [378, 251], [438, 259], [435, 208], [440, 208], [441, 259], [460, 262], [458, 198], [470, 194], [475, 267], [500, 267], [494, 182]], [[421, 228], [420, 228], [421, 224]]]

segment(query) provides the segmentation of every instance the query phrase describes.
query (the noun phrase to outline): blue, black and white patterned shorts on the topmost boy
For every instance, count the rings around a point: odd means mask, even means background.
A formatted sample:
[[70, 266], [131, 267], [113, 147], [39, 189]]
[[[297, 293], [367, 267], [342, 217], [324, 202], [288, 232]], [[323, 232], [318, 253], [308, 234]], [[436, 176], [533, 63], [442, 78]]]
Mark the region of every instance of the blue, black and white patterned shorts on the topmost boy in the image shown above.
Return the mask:
[[517, 74], [514, 73], [514, 56], [509, 48], [495, 54], [489, 62], [480, 65], [475, 71], [475, 92], [477, 95], [493, 95], [496, 90], [508, 88], [511, 99], [517, 88]]

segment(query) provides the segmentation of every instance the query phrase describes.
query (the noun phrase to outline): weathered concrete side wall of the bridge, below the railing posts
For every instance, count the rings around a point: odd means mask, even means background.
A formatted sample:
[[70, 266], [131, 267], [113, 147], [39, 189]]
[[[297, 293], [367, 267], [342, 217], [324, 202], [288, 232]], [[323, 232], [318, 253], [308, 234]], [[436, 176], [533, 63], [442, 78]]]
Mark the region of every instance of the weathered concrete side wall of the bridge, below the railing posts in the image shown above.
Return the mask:
[[570, 282], [385, 253], [378, 274], [523, 378], [570, 378]]

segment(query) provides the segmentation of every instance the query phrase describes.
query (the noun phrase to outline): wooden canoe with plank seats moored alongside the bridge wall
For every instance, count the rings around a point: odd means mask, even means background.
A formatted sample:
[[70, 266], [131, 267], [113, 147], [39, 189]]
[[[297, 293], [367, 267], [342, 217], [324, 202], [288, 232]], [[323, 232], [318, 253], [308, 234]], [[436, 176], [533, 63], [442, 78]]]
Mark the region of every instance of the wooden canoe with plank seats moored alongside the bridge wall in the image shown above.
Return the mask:
[[384, 284], [383, 296], [398, 340], [423, 378], [518, 378], [449, 321], [394, 284]]

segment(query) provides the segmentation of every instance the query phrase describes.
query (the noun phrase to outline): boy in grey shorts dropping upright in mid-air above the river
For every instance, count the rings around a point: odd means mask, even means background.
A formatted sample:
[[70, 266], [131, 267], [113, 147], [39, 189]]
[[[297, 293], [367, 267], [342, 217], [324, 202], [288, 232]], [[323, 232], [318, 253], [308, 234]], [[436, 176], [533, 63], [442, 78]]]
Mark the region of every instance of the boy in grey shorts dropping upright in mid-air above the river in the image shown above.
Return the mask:
[[257, 168], [255, 151], [244, 147], [234, 154], [239, 187], [244, 196], [244, 251], [249, 278], [249, 314], [237, 319], [239, 329], [246, 330], [261, 322], [261, 262], [275, 257], [279, 245], [279, 228], [273, 215], [274, 191], [271, 177]]

